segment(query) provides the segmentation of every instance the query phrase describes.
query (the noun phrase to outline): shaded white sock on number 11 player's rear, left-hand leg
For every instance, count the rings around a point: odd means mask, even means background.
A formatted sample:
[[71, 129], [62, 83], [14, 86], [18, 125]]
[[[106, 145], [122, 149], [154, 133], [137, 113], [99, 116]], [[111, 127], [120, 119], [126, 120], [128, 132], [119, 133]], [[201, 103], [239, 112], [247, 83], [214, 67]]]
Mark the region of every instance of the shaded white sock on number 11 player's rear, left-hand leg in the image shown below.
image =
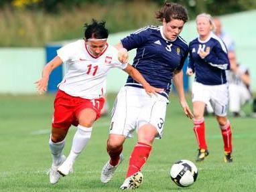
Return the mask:
[[53, 157], [53, 164], [54, 166], [58, 166], [60, 164], [60, 157], [62, 155], [62, 150], [65, 145], [65, 140], [62, 140], [60, 142], [52, 142], [51, 137], [52, 135], [50, 135], [49, 146]]

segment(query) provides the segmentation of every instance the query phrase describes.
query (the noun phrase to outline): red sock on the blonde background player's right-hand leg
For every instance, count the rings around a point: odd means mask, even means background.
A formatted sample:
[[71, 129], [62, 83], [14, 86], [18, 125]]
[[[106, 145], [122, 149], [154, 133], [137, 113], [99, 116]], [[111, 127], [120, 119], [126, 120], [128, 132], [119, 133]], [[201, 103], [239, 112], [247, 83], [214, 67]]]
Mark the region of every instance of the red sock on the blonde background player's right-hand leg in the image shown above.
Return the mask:
[[223, 142], [224, 142], [224, 150], [226, 152], [232, 152], [232, 132], [231, 132], [231, 124], [228, 121], [226, 125], [220, 126]]

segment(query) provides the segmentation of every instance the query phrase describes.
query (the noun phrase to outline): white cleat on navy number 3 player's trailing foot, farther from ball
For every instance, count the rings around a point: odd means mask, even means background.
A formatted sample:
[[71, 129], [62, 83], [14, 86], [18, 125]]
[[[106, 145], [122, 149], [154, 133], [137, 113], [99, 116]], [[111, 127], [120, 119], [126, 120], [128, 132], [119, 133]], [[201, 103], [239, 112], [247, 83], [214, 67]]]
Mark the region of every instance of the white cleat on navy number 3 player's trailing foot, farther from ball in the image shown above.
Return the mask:
[[112, 179], [112, 177], [115, 173], [115, 170], [120, 165], [120, 163], [122, 163], [123, 159], [124, 159], [123, 154], [121, 153], [119, 163], [116, 166], [110, 165], [110, 163], [109, 163], [110, 161], [108, 161], [104, 165], [103, 170], [101, 171], [101, 182], [108, 183]]

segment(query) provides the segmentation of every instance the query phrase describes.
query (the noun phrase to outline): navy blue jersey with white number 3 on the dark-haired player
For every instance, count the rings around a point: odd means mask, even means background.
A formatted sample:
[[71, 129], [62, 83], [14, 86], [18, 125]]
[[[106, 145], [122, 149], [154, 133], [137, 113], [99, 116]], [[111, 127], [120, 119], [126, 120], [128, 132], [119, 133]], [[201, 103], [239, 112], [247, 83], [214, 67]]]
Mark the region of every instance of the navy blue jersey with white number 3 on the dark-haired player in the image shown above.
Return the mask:
[[[182, 70], [188, 56], [188, 45], [180, 36], [174, 41], [164, 37], [163, 26], [147, 26], [121, 39], [128, 51], [137, 48], [133, 60], [136, 68], [151, 86], [164, 88], [168, 97], [174, 70]], [[131, 76], [126, 86], [141, 87]]]

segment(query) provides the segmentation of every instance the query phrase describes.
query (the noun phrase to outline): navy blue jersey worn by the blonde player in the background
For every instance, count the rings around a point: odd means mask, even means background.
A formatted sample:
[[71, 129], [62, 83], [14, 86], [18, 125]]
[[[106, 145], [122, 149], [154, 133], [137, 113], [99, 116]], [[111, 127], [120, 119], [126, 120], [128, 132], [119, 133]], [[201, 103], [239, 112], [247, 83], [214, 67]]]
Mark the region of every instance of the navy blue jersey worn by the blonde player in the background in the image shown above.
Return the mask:
[[[197, 37], [190, 42], [189, 50], [188, 68], [196, 73], [196, 82], [205, 85], [220, 85], [227, 82], [225, 70], [230, 69], [229, 58], [227, 48], [219, 37], [214, 33], [205, 41]], [[202, 59], [199, 56], [200, 50], [210, 50], [210, 54]]]

